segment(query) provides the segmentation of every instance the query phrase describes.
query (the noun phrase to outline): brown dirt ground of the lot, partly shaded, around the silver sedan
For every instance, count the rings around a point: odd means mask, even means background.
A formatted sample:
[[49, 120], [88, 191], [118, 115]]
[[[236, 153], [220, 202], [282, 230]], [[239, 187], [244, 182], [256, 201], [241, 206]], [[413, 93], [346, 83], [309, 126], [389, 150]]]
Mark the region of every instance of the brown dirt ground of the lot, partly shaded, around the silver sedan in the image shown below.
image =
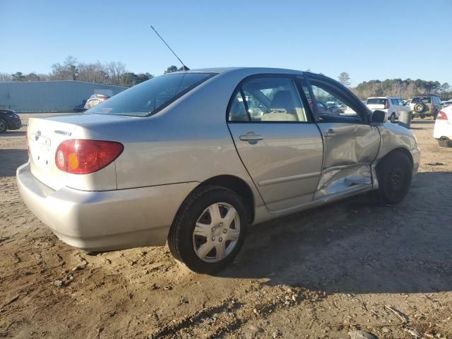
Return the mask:
[[422, 165], [398, 206], [367, 194], [256, 225], [217, 276], [167, 246], [60, 242], [16, 188], [26, 127], [2, 134], [0, 337], [452, 338], [452, 148], [433, 126], [413, 121]]

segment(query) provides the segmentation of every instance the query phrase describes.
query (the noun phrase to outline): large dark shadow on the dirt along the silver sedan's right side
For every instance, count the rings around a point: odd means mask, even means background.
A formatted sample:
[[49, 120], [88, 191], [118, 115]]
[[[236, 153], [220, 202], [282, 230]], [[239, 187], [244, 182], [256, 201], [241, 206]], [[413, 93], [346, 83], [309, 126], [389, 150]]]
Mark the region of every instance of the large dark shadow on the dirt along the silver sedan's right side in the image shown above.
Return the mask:
[[452, 173], [415, 177], [387, 206], [363, 194], [251, 227], [241, 254], [219, 276], [268, 278], [326, 292], [452, 290]]

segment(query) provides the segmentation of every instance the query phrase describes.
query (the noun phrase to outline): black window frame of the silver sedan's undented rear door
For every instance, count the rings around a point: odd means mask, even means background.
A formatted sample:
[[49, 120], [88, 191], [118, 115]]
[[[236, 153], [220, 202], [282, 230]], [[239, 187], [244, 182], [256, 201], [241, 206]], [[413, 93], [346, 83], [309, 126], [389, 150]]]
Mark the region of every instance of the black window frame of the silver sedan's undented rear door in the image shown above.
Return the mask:
[[[232, 92], [232, 95], [230, 97], [230, 100], [227, 103], [226, 123], [227, 124], [313, 124], [313, 123], [315, 123], [315, 120], [312, 119], [311, 114], [309, 114], [311, 112], [311, 107], [309, 107], [309, 105], [308, 106], [305, 105], [304, 93], [300, 93], [299, 84], [297, 81], [297, 78], [300, 76], [302, 76], [302, 75], [301, 74], [292, 74], [292, 73], [257, 73], [257, 74], [251, 74], [251, 76], [246, 76], [241, 81], [239, 81], [237, 86], [235, 86], [234, 91]], [[295, 85], [295, 90], [297, 91], [297, 93], [299, 95], [299, 98], [300, 98], [303, 108], [304, 108], [304, 112], [306, 113], [307, 121], [256, 121], [256, 120], [251, 120], [251, 116], [247, 109], [248, 105], [246, 104], [246, 100], [245, 100], [244, 93], [242, 90], [242, 85], [246, 81], [254, 80], [254, 79], [262, 79], [262, 78], [285, 78], [285, 79], [293, 81], [293, 84]], [[234, 99], [235, 99], [235, 96], [237, 95], [237, 93], [241, 93], [241, 95], [242, 95], [242, 100], [244, 102], [246, 114], [248, 114], [249, 121], [230, 121], [229, 120], [230, 108], [232, 106], [232, 102], [234, 102]], [[307, 112], [307, 110], [309, 110], [309, 112]]]

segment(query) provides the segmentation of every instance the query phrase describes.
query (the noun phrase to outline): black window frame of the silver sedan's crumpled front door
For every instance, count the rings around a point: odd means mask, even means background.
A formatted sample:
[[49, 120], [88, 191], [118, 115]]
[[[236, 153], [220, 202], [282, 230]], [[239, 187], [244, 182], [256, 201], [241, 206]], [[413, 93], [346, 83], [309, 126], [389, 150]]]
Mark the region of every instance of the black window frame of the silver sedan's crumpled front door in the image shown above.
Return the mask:
[[[346, 117], [346, 116], [338, 116], [338, 119], [326, 119], [323, 121], [318, 121], [318, 120], [314, 120], [316, 121], [316, 124], [325, 124], [325, 123], [331, 123], [331, 122], [343, 122], [344, 124], [365, 124], [365, 125], [369, 125], [371, 122], [371, 114], [369, 113], [370, 111], [367, 109], [367, 106], [364, 105], [363, 102], [361, 102], [361, 100], [359, 100], [355, 94], [352, 93], [351, 90], [349, 90], [348, 88], [346, 88], [344, 85], [342, 85], [341, 83], [339, 83], [338, 81], [334, 81], [331, 78], [328, 78], [326, 76], [321, 76], [320, 74], [314, 74], [314, 73], [307, 73], [306, 76], [306, 82], [309, 88], [309, 93], [311, 95], [311, 97], [313, 97], [314, 99], [314, 118], [317, 116], [319, 117], [319, 112], [317, 110], [317, 98], [314, 95], [314, 92], [312, 90], [312, 85], [311, 85], [311, 79], [319, 81], [319, 82], [323, 82], [326, 83], [327, 85], [331, 85], [335, 88], [338, 89], [338, 92], [340, 95], [342, 95], [345, 98], [345, 102], [350, 102], [352, 105], [347, 105], [348, 107], [352, 108], [355, 112], [360, 112], [360, 118], [361, 121], [356, 121], [354, 119], [354, 117]], [[340, 99], [342, 101], [342, 99], [339, 97], [338, 99]], [[347, 121], [349, 120], [350, 121]], [[341, 121], [342, 120], [342, 121]]]

